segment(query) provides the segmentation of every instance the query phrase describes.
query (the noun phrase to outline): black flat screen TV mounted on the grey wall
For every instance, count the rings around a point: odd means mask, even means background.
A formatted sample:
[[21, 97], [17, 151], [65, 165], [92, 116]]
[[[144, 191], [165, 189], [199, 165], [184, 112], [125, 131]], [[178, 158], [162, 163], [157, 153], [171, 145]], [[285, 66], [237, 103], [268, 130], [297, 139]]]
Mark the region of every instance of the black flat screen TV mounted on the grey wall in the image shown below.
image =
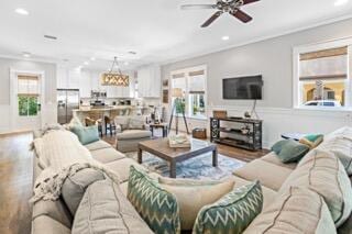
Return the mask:
[[223, 99], [261, 100], [263, 77], [249, 76], [222, 80]]

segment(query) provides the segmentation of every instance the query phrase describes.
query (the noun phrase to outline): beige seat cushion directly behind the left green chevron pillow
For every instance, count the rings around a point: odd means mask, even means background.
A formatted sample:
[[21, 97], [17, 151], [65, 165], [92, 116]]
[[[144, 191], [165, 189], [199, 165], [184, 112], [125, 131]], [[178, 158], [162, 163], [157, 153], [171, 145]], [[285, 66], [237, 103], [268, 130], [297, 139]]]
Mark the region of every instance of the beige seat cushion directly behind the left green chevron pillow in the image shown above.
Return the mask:
[[109, 167], [112, 171], [116, 171], [119, 175], [120, 181], [125, 182], [129, 180], [130, 176], [130, 168], [133, 165], [135, 168], [139, 168], [140, 170], [147, 171], [146, 168], [138, 164], [135, 160], [131, 158], [123, 158], [120, 160], [114, 160], [111, 163], [106, 164], [107, 167]]

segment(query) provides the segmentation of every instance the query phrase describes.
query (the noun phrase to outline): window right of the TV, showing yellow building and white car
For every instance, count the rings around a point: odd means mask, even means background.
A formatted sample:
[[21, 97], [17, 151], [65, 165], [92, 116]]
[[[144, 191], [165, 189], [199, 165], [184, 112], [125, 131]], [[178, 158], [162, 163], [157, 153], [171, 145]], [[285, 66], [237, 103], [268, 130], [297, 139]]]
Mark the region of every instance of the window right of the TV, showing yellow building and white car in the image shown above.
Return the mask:
[[[315, 49], [316, 47], [316, 49]], [[295, 52], [296, 103], [301, 108], [351, 108], [349, 43], [329, 43]]]

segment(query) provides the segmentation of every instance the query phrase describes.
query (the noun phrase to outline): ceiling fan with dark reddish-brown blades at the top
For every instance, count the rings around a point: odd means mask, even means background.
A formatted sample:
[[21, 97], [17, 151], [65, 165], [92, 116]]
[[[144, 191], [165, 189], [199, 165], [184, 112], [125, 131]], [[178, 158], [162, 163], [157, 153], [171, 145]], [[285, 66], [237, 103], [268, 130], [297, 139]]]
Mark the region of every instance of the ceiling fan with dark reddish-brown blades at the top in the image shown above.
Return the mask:
[[248, 23], [253, 20], [252, 16], [241, 10], [242, 5], [250, 4], [260, 0], [217, 0], [216, 4], [183, 4], [182, 10], [202, 10], [215, 9], [217, 10], [202, 25], [201, 27], [209, 26], [221, 14], [229, 13], [232, 16], [239, 19], [243, 23]]

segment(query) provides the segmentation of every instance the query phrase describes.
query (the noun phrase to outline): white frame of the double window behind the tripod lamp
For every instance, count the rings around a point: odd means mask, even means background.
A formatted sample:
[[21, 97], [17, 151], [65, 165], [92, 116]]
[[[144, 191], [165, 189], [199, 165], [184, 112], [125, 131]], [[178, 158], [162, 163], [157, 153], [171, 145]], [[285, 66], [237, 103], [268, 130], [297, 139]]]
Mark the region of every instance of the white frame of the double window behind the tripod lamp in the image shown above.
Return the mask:
[[[204, 70], [205, 71], [205, 116], [195, 116], [195, 115], [190, 115], [190, 94], [189, 94], [189, 87], [188, 87], [188, 74], [191, 71], [198, 71], [198, 70]], [[173, 76], [174, 75], [178, 75], [178, 74], [185, 74], [185, 79], [186, 79], [186, 91], [185, 91], [185, 100], [186, 100], [186, 110], [185, 110], [185, 115], [188, 119], [196, 119], [196, 120], [207, 120], [208, 119], [208, 67], [207, 65], [199, 65], [199, 66], [195, 66], [195, 67], [187, 67], [187, 68], [183, 68], [183, 69], [178, 69], [178, 70], [173, 70], [170, 71], [170, 76], [169, 76], [169, 87], [170, 87], [170, 91], [169, 91], [169, 96], [172, 94], [172, 90], [173, 90]], [[169, 109], [172, 110], [173, 108], [173, 97], [169, 97]]]

